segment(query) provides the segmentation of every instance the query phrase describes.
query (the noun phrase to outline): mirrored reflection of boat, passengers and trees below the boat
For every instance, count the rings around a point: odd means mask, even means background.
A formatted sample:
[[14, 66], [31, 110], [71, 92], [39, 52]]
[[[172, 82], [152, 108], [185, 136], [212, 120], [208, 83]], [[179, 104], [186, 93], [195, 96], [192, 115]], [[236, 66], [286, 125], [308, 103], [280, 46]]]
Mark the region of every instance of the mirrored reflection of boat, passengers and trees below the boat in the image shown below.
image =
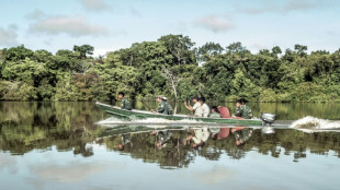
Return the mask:
[[[263, 133], [262, 129], [243, 127], [168, 128], [122, 126], [107, 129], [100, 138], [109, 150], [120, 151], [144, 162], [158, 163], [161, 167], [186, 167], [195, 157], [218, 161], [222, 154], [241, 159], [248, 152], [280, 157], [292, 155], [296, 162], [306, 158], [306, 150], [327, 155], [337, 152], [340, 135], [337, 132], [304, 133], [292, 129], [276, 129], [276, 133]], [[124, 145], [124, 149], [122, 149]]]

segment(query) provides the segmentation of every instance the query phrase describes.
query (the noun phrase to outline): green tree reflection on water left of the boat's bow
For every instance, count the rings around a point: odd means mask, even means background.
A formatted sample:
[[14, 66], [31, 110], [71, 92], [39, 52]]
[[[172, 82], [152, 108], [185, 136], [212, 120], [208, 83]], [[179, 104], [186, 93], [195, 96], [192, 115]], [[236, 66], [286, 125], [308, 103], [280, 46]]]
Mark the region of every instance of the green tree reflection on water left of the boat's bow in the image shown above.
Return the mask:
[[100, 133], [103, 118], [93, 103], [0, 103], [0, 150], [24, 154], [34, 149], [91, 155], [86, 144]]

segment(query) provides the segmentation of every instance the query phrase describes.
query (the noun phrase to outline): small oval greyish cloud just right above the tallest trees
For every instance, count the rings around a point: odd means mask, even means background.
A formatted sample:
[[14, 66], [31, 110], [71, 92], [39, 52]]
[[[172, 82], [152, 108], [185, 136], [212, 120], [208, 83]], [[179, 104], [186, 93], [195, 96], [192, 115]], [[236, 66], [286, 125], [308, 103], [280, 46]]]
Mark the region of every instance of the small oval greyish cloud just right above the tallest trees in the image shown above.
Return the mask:
[[217, 15], [207, 15], [194, 21], [199, 27], [204, 27], [213, 31], [214, 33], [226, 32], [234, 28], [234, 24], [229, 21], [220, 19]]

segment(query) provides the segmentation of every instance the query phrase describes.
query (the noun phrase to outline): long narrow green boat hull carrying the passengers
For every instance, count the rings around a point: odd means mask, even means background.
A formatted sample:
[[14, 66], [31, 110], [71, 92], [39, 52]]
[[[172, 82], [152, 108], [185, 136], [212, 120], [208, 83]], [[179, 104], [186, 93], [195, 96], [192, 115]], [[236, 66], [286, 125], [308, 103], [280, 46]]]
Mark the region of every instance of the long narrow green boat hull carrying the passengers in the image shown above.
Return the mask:
[[[138, 110], [138, 109], [121, 109], [120, 107], [103, 104], [100, 102], [95, 103], [102, 110], [105, 112], [126, 118], [128, 120], [136, 119], [147, 119], [147, 118], [162, 118], [167, 120], [194, 120], [206, 123], [220, 123], [220, 124], [233, 124], [233, 126], [265, 126], [265, 120], [261, 119], [226, 119], [226, 118], [199, 118], [189, 115], [162, 115], [162, 114], [152, 114], [150, 111]], [[273, 122], [273, 121], [272, 121]]]

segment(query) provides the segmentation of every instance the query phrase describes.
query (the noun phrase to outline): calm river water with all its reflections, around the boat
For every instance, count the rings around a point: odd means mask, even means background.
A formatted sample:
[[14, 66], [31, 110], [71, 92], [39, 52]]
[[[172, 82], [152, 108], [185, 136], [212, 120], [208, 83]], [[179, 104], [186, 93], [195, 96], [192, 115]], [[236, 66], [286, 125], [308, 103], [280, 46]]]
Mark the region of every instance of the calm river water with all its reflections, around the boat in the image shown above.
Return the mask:
[[[280, 120], [340, 117], [339, 104], [249, 106], [254, 116], [273, 112]], [[178, 111], [189, 114], [182, 104]], [[340, 188], [338, 130], [107, 127], [103, 120], [116, 118], [94, 103], [0, 102], [0, 189]]]

